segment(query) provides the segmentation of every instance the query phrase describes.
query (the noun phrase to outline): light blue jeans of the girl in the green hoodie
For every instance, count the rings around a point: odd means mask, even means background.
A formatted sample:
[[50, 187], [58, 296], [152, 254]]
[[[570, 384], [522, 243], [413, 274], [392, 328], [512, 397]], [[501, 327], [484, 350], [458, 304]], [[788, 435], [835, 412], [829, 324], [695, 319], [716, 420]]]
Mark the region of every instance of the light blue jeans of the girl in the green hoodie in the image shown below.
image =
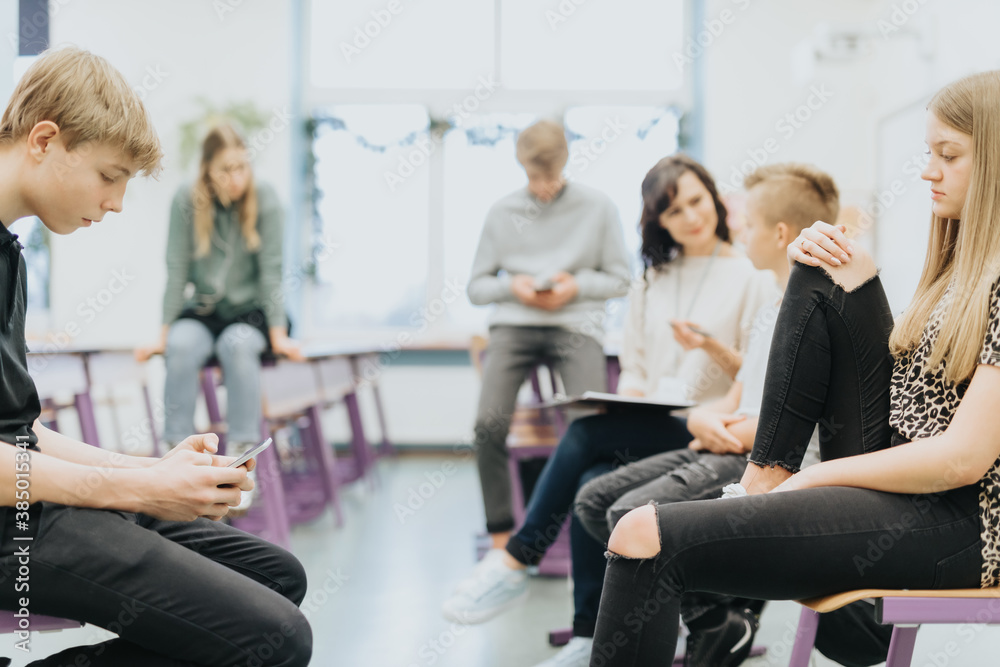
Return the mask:
[[267, 340], [254, 326], [230, 324], [218, 339], [201, 322], [182, 318], [170, 325], [165, 353], [167, 377], [163, 389], [163, 439], [177, 443], [195, 433], [198, 373], [212, 355], [222, 366], [226, 385], [229, 442], [260, 439], [260, 355]]

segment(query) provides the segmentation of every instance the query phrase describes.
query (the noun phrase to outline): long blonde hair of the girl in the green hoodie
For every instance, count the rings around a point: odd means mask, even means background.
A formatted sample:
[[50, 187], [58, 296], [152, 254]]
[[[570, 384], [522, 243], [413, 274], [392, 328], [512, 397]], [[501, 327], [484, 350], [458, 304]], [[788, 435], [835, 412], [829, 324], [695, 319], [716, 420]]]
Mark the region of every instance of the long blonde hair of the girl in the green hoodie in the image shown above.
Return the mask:
[[[212, 245], [212, 229], [215, 226], [214, 207], [219, 193], [215, 191], [212, 178], [208, 173], [212, 160], [219, 152], [227, 148], [246, 149], [246, 142], [232, 125], [221, 124], [212, 128], [201, 144], [201, 163], [198, 167], [198, 180], [191, 189], [191, 201], [194, 205], [194, 239], [195, 256], [204, 257]], [[228, 201], [224, 201], [229, 204]], [[260, 248], [260, 234], [257, 232], [257, 189], [254, 187], [253, 172], [247, 179], [247, 189], [236, 204], [236, 212], [240, 219], [240, 232], [247, 249], [256, 251]]]

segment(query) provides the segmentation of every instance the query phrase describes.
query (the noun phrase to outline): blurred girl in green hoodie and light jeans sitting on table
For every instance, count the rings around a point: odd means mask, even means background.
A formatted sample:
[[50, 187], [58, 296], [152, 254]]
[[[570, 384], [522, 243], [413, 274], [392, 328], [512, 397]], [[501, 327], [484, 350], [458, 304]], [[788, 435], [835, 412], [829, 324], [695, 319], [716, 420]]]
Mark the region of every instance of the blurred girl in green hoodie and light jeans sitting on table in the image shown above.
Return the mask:
[[[170, 208], [163, 330], [136, 350], [140, 361], [166, 358], [164, 439], [194, 433], [198, 374], [213, 356], [227, 398], [227, 451], [240, 456], [260, 439], [260, 355], [301, 359], [288, 338], [281, 293], [281, 204], [253, 178], [246, 144], [230, 125], [202, 143], [198, 178]], [[185, 299], [192, 286], [193, 294]], [[250, 503], [244, 494], [241, 505]]]

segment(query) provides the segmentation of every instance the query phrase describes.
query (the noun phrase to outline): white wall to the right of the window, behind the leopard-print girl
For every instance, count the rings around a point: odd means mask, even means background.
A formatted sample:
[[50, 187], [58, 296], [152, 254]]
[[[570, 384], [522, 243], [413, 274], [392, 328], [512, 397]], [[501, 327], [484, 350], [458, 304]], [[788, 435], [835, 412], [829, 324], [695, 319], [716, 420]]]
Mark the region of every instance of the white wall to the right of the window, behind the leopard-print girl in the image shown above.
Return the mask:
[[[896, 112], [960, 76], [1000, 66], [994, 34], [1000, 4], [709, 0], [706, 19], [727, 8], [736, 18], [704, 55], [706, 165], [717, 180], [730, 181], [734, 168], [752, 158], [748, 151], [760, 157], [770, 138], [777, 150], [767, 155], [767, 162], [804, 161], [827, 170], [840, 186], [845, 206], [882, 213], [873, 204], [883, 194], [889, 204], [877, 223], [878, 233], [866, 234], [866, 242], [875, 248], [898, 312], [916, 287], [930, 202], [928, 186], [912, 178], [913, 166], [907, 164], [926, 150], [922, 104], [916, 123], [912, 109], [905, 121]], [[823, 26], [865, 38], [862, 55], [808, 57], [802, 45], [818, 43]], [[829, 99], [810, 110], [801, 127], [783, 121], [808, 101], [814, 88], [829, 93]], [[905, 196], [886, 196], [884, 191], [897, 180]]]

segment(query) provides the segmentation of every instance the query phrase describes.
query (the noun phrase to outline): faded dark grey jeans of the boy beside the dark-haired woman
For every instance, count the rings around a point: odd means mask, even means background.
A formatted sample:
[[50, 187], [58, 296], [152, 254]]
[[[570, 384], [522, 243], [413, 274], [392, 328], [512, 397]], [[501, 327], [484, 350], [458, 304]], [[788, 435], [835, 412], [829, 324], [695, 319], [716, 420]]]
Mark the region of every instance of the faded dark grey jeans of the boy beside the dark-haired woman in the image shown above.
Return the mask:
[[[618, 520], [636, 507], [718, 498], [723, 487], [740, 481], [746, 466], [742, 454], [686, 447], [656, 454], [587, 482], [576, 494], [573, 511], [595, 540], [607, 544]], [[681, 617], [690, 623], [710, 609], [735, 603], [731, 596], [689, 593], [681, 601]]]

